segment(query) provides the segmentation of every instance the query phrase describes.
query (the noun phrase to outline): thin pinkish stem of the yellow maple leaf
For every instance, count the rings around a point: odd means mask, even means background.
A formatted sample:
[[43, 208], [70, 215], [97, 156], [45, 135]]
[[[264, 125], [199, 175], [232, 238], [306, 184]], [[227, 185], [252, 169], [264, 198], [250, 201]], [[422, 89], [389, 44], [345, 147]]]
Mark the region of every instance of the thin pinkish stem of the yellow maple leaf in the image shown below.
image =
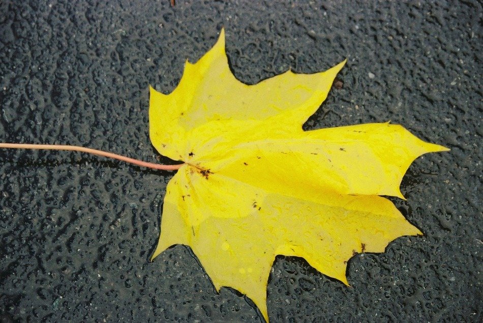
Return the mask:
[[108, 158], [114, 158], [122, 161], [126, 161], [126, 163], [131, 163], [140, 167], [147, 167], [156, 170], [163, 170], [163, 171], [175, 171], [178, 170], [185, 164], [179, 165], [162, 165], [162, 164], [154, 164], [154, 163], [147, 163], [146, 161], [129, 158], [126, 156], [114, 154], [112, 152], [107, 152], [103, 150], [97, 150], [92, 148], [86, 148], [81, 146], [71, 146], [71, 145], [39, 145], [39, 144], [11, 144], [11, 143], [0, 143], [0, 148], [15, 148], [15, 149], [49, 149], [49, 150], [71, 150], [71, 151], [80, 151], [86, 152], [93, 155], [104, 156]]

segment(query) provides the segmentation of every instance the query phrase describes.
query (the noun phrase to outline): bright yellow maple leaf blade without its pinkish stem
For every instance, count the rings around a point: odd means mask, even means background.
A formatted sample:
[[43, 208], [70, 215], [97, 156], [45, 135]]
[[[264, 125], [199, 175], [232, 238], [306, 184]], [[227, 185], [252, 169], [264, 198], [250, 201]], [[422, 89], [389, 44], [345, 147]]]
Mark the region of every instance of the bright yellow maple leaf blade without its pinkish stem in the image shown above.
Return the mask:
[[150, 88], [150, 139], [186, 163], [168, 183], [153, 258], [190, 246], [217, 290], [246, 294], [268, 320], [276, 255], [304, 257], [347, 284], [354, 254], [421, 234], [380, 195], [403, 198], [412, 161], [447, 148], [389, 123], [302, 130], [344, 63], [246, 85], [230, 71], [221, 30], [172, 93]]

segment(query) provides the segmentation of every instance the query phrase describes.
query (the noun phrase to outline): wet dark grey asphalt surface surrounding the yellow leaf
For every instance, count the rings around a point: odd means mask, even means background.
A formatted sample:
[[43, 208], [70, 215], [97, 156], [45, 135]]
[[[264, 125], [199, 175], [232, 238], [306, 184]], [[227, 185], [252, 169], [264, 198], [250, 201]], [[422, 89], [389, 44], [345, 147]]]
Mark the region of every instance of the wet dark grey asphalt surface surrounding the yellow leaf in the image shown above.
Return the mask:
[[[307, 130], [391, 120], [450, 152], [418, 158], [393, 199], [422, 232], [349, 261], [351, 287], [279, 256], [271, 321], [481, 321], [481, 3], [0, 1], [0, 141], [170, 163], [148, 138], [168, 93], [226, 29], [256, 83], [344, 58]], [[2, 321], [261, 321], [215, 292], [189, 248], [151, 263], [169, 172], [82, 153], [0, 151]]]

